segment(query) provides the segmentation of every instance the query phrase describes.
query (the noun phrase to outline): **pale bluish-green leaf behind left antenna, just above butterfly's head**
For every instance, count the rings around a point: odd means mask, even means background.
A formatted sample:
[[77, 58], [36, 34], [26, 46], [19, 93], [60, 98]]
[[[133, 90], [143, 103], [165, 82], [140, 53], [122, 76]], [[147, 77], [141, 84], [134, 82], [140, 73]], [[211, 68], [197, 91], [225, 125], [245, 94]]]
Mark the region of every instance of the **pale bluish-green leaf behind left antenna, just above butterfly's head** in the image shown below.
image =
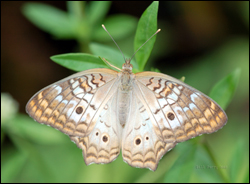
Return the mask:
[[[106, 45], [97, 44], [97, 43], [91, 43], [90, 44], [90, 50], [93, 54], [96, 56], [104, 57], [105, 59], [108, 59], [108, 61], [115, 65], [118, 68], [121, 68], [122, 65], [125, 63], [124, 59], [122, 58], [122, 54], [117, 50], [108, 47]], [[126, 54], [125, 58], [129, 58]], [[138, 71], [138, 65], [137, 63], [132, 60], [131, 64], [133, 65], [133, 72]]]

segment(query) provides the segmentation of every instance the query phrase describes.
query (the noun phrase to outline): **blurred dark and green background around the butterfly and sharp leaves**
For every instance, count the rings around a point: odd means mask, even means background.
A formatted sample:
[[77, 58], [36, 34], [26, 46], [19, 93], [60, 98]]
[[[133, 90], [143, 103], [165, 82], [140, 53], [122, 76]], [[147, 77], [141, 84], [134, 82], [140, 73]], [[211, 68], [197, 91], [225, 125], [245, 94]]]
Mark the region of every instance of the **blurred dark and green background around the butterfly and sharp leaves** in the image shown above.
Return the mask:
[[[102, 23], [124, 54], [132, 56], [137, 21], [151, 2], [41, 3], [1, 1], [1, 182], [249, 182], [248, 1], [159, 3], [162, 31], [146, 70], [185, 76], [185, 83], [205, 94], [236, 68], [241, 75], [226, 109], [226, 126], [179, 143], [155, 172], [130, 167], [121, 155], [110, 164], [86, 166], [68, 136], [25, 113], [33, 94], [74, 73], [51, 56], [91, 52], [93, 42], [116, 49]], [[36, 24], [39, 16], [45, 24]], [[50, 16], [58, 18], [55, 29], [46, 24]], [[122, 63], [122, 55], [117, 60]], [[209, 156], [205, 147], [194, 146], [197, 141], [209, 146]]]

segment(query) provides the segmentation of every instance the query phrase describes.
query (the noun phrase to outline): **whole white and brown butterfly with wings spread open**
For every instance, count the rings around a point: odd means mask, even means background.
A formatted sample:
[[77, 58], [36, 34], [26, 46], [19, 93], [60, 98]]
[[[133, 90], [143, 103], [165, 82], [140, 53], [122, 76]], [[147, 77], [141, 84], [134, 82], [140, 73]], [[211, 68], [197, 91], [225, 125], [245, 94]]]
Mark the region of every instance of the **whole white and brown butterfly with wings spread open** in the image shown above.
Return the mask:
[[179, 142], [213, 133], [227, 122], [221, 107], [198, 90], [157, 72], [89, 69], [37, 92], [27, 113], [67, 134], [86, 165], [110, 163], [122, 151], [133, 167], [157, 169]]

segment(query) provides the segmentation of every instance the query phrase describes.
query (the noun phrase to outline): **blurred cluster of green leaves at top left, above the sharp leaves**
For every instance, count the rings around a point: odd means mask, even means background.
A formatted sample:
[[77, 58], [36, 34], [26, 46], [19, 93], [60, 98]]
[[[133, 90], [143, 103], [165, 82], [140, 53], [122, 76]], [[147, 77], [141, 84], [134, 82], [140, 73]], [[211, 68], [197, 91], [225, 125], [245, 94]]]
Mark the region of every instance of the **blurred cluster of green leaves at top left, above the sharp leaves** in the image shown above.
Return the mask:
[[[75, 39], [82, 52], [89, 52], [91, 41], [110, 41], [101, 24], [109, 28], [114, 39], [130, 35], [136, 27], [136, 18], [114, 15], [105, 18], [109, 1], [69, 1], [68, 12], [42, 3], [26, 3], [23, 14], [37, 27], [58, 39]], [[124, 23], [128, 25], [124, 29]]]

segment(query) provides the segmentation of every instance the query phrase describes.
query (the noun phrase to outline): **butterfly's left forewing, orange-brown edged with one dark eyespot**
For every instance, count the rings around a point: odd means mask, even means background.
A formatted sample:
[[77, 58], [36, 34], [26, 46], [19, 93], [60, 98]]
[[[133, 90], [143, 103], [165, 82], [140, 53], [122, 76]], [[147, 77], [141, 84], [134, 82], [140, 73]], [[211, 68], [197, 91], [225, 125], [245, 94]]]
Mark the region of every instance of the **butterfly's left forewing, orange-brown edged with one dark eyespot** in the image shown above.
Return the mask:
[[117, 73], [90, 69], [71, 75], [37, 92], [26, 111], [39, 123], [84, 137], [93, 130], [100, 111], [113, 95]]

